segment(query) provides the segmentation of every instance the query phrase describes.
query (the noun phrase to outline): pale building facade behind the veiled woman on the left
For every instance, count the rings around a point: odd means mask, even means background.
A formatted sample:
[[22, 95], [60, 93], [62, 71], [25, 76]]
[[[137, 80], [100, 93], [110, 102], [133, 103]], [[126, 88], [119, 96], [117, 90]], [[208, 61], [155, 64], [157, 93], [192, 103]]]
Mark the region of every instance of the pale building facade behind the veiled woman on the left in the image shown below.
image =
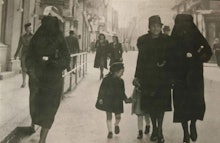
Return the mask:
[[14, 59], [19, 37], [24, 34], [24, 24], [31, 22], [33, 33], [41, 24], [48, 7], [55, 7], [62, 19], [64, 36], [74, 30], [81, 51], [89, 45], [90, 26], [85, 15], [86, 0], [0, 0], [0, 74], [20, 71], [20, 61]]

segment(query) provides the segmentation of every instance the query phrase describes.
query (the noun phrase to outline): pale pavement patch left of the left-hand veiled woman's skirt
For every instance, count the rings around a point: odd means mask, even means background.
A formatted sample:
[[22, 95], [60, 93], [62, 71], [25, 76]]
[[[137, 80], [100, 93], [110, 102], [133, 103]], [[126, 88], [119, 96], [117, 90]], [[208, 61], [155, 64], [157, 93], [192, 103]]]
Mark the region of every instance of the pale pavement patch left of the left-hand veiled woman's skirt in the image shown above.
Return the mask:
[[0, 81], [0, 141], [29, 122], [29, 89], [21, 83], [21, 74]]

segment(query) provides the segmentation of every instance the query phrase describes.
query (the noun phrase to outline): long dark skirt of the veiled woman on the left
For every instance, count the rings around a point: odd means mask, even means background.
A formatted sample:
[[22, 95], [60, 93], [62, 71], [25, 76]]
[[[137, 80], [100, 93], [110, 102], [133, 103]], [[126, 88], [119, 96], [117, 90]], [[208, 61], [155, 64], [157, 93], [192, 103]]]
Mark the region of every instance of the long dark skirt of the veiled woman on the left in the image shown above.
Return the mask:
[[34, 124], [51, 128], [60, 105], [62, 84], [60, 71], [46, 71], [41, 76], [30, 74], [30, 114]]

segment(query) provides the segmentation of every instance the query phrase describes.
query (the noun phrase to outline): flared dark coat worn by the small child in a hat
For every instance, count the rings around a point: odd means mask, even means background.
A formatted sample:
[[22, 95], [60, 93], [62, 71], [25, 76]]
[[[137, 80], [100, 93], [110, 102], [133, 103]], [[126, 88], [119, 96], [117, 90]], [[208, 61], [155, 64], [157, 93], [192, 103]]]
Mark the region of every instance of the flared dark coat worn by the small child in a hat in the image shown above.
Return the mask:
[[[116, 114], [123, 113], [123, 100], [126, 98], [123, 79], [108, 75], [99, 88], [96, 108]], [[103, 100], [102, 105], [99, 104], [99, 99]]]

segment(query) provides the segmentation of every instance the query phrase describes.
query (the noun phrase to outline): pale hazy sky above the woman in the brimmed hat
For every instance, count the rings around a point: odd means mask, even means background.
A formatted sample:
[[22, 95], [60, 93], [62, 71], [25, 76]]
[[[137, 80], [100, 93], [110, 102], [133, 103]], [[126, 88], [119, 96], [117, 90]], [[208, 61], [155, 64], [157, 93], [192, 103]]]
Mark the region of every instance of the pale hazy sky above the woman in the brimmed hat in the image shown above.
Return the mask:
[[171, 10], [175, 0], [111, 0], [119, 13], [119, 27], [126, 27], [134, 16], [148, 22], [151, 15], [160, 15], [162, 22], [172, 25], [174, 12]]

